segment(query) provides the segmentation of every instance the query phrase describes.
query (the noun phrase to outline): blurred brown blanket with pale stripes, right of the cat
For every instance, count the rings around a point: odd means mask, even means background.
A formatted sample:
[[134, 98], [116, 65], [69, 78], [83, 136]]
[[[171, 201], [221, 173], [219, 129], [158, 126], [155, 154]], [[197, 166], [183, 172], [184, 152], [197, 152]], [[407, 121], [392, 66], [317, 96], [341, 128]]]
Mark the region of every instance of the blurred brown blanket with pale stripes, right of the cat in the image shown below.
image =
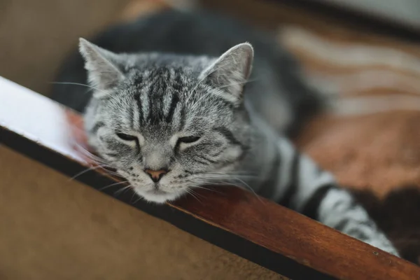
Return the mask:
[[331, 27], [280, 39], [332, 99], [296, 143], [358, 193], [402, 256], [420, 264], [420, 49]]

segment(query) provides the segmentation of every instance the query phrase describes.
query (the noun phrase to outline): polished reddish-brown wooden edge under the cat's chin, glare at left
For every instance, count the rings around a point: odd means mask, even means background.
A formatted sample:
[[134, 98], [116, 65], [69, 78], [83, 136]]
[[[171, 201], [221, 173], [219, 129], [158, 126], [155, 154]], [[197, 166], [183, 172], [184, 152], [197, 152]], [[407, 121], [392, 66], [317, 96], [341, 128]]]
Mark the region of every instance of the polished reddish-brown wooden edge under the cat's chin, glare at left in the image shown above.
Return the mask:
[[[178, 228], [292, 279], [420, 279], [420, 267], [239, 188], [197, 191], [163, 206], [109, 186], [94, 169], [78, 114], [0, 77], [0, 143]], [[83, 143], [82, 143], [83, 144]]]

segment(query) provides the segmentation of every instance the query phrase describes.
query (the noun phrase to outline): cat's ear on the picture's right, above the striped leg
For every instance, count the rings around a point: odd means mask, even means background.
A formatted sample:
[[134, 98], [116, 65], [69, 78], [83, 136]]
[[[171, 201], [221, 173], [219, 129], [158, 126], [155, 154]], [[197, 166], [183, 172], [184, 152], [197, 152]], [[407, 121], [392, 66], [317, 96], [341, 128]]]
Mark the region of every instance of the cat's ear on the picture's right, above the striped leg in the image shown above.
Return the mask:
[[240, 102], [244, 84], [251, 74], [252, 62], [252, 45], [240, 43], [221, 55], [200, 77], [223, 92], [228, 92], [225, 96], [228, 99]]

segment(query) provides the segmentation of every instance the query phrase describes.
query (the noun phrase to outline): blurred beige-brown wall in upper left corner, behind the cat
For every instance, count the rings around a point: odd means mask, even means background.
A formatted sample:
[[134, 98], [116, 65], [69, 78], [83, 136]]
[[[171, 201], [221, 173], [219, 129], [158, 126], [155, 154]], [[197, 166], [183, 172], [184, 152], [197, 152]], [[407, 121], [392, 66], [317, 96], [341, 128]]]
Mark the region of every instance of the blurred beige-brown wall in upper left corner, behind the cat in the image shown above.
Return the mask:
[[79, 36], [112, 22], [129, 0], [0, 0], [0, 76], [45, 93]]

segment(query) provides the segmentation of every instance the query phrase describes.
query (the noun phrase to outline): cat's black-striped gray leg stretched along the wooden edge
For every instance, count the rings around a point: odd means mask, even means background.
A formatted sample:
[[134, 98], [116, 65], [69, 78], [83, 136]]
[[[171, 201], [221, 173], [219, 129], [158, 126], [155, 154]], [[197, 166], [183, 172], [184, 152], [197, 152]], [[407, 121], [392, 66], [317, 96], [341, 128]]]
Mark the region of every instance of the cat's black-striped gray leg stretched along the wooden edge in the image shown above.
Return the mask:
[[321, 170], [313, 160], [299, 153], [287, 139], [281, 139], [278, 147], [280, 172], [275, 196], [279, 203], [346, 235], [398, 255], [367, 211], [349, 191], [337, 185], [332, 174]]

